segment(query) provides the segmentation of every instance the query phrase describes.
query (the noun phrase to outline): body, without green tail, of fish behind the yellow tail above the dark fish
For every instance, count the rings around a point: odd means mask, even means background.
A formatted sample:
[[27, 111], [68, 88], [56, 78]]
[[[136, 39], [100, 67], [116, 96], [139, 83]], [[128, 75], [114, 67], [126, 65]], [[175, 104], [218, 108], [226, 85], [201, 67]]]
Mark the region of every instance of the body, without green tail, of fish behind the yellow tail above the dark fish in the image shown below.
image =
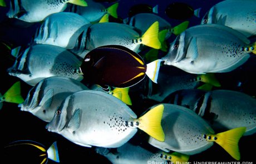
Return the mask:
[[132, 16], [131, 18], [127, 18], [126, 22], [124, 23], [139, 29], [141, 34], [143, 34], [155, 21], [159, 22], [159, 32], [164, 29], [168, 29], [168, 33], [166, 33], [165, 38], [166, 39], [169, 38], [171, 36], [171, 33], [173, 32], [173, 27], [164, 18], [157, 16], [157, 14], [139, 13], [139, 14], [136, 14], [135, 16]]

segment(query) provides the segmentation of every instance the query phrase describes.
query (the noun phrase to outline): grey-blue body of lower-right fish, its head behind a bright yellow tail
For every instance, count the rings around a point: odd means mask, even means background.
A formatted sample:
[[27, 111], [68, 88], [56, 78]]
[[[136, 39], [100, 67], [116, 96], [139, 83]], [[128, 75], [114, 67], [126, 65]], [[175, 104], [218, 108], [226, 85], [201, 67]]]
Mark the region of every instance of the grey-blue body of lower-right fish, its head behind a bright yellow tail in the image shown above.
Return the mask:
[[195, 155], [213, 146], [203, 137], [214, 134], [209, 124], [195, 112], [183, 106], [163, 104], [165, 111], [161, 125], [165, 133], [165, 141], [159, 142], [149, 138], [152, 146], [163, 151], [175, 151], [186, 155]]

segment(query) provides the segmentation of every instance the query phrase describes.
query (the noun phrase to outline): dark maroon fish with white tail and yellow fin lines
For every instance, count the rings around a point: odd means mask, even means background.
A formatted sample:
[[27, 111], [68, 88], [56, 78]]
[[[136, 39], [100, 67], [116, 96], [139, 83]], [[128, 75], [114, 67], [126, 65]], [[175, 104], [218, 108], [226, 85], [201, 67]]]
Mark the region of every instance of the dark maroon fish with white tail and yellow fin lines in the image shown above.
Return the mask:
[[147, 76], [157, 83], [160, 64], [161, 59], [145, 64], [139, 54], [124, 46], [101, 46], [83, 59], [80, 69], [85, 78], [81, 82], [126, 88]]

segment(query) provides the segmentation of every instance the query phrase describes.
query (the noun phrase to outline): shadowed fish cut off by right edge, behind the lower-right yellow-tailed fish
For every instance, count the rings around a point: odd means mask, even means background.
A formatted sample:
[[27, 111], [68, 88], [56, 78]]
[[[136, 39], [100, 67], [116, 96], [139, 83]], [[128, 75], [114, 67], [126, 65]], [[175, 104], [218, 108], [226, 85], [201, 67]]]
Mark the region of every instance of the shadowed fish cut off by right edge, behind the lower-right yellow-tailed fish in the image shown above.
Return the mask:
[[[243, 126], [246, 127], [244, 136], [256, 132], [256, 100], [246, 93], [232, 90], [188, 90], [177, 94], [176, 99], [180, 101], [175, 101], [174, 104], [188, 106], [203, 117], [214, 131], [227, 131]], [[195, 95], [200, 96], [195, 98]]]

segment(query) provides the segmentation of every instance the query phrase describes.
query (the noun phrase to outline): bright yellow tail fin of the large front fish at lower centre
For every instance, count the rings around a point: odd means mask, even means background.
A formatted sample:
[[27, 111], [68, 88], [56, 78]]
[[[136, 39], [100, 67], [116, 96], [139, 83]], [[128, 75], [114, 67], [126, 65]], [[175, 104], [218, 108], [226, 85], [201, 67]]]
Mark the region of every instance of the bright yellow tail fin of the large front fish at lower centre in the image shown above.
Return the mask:
[[160, 142], [164, 142], [165, 140], [164, 131], [161, 126], [163, 112], [164, 105], [158, 105], [137, 119], [140, 122], [140, 130], [146, 132]]

